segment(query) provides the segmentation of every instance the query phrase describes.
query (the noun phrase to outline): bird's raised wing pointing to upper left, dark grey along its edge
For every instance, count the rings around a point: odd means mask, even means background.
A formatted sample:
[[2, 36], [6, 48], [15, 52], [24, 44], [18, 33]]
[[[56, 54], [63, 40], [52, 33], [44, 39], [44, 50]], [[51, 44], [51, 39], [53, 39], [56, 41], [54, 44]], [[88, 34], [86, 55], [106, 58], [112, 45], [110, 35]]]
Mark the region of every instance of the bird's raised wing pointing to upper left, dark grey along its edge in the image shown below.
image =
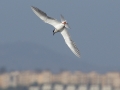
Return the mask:
[[52, 26], [54, 26], [56, 28], [56, 25], [60, 24], [59, 21], [57, 21], [54, 18], [51, 18], [49, 16], [47, 16], [47, 14], [43, 11], [41, 11], [40, 9], [38, 9], [37, 7], [31, 7], [31, 9], [33, 10], [33, 12], [40, 18], [42, 19], [45, 23], [48, 23]]

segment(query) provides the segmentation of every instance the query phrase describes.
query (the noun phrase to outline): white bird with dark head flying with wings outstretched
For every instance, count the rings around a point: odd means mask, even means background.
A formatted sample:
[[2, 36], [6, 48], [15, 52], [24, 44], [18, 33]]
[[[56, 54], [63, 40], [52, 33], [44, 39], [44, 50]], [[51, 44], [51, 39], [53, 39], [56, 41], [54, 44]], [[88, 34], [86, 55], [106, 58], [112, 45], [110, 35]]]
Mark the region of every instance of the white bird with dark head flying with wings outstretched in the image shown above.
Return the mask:
[[55, 29], [53, 30], [53, 35], [57, 32], [60, 32], [65, 40], [65, 43], [68, 45], [68, 47], [71, 49], [71, 51], [80, 58], [80, 52], [75, 45], [75, 43], [72, 41], [70, 34], [67, 31], [67, 28], [69, 28], [67, 21], [64, 19], [64, 17], [61, 15], [61, 22], [57, 21], [54, 18], [51, 18], [47, 16], [47, 14], [37, 7], [31, 7], [33, 12], [42, 19], [45, 23], [48, 23], [52, 25]]

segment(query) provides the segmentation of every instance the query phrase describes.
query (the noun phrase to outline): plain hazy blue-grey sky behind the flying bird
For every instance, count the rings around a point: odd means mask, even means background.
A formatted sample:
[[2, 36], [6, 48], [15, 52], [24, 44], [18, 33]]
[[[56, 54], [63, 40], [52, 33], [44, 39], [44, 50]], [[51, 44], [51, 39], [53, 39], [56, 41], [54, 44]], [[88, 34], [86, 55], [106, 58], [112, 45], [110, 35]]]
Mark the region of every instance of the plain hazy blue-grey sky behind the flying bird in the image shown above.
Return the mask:
[[[40, 20], [31, 6], [58, 20], [61, 14], [65, 17], [80, 59], [71, 53], [60, 33], [53, 36], [54, 28]], [[38, 43], [93, 65], [119, 66], [120, 0], [1, 0], [0, 43], [12, 42]]]

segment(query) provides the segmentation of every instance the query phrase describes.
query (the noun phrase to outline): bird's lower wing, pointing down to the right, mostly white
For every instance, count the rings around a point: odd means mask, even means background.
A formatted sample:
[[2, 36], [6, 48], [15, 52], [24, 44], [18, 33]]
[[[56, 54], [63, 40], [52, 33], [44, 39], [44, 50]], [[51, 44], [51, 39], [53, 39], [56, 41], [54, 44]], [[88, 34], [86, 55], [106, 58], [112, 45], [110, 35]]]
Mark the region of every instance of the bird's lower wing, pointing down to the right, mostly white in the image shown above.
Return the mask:
[[65, 40], [65, 43], [68, 45], [68, 47], [71, 49], [71, 51], [77, 56], [80, 58], [80, 52], [77, 48], [77, 46], [75, 45], [75, 42], [73, 42], [71, 40], [71, 37], [67, 31], [66, 28], [64, 28], [64, 30], [61, 32], [64, 40]]

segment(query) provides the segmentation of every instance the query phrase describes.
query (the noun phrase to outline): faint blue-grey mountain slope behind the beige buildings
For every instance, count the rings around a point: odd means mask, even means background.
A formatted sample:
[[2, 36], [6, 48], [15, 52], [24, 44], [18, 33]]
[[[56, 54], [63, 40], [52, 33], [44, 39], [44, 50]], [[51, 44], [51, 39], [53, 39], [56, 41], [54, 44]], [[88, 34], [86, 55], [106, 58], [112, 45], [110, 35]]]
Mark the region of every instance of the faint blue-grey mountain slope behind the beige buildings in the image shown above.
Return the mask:
[[76, 58], [62, 55], [35, 43], [16, 42], [0, 44], [0, 67], [4, 66], [8, 70], [102, 71], [102, 68], [90, 65], [88, 62], [80, 59], [76, 60]]

